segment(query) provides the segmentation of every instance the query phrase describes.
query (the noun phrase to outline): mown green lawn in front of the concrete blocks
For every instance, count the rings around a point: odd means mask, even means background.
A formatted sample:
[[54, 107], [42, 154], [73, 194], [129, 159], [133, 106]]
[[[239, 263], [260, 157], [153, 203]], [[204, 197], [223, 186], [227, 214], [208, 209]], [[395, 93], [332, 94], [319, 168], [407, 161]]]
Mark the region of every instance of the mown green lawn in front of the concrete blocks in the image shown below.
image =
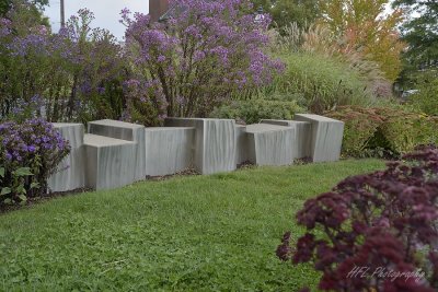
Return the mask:
[[297, 291], [275, 256], [307, 198], [378, 160], [145, 182], [0, 215], [0, 291]]

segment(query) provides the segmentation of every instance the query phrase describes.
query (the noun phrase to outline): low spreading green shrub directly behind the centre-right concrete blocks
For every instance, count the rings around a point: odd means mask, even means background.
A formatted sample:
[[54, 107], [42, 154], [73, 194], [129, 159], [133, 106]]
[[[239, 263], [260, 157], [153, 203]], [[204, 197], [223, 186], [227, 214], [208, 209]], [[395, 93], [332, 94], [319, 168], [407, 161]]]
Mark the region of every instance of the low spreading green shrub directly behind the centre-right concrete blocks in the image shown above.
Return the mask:
[[292, 119], [304, 109], [293, 102], [250, 100], [234, 101], [231, 104], [215, 108], [212, 118], [232, 118], [245, 124], [256, 124], [261, 119]]

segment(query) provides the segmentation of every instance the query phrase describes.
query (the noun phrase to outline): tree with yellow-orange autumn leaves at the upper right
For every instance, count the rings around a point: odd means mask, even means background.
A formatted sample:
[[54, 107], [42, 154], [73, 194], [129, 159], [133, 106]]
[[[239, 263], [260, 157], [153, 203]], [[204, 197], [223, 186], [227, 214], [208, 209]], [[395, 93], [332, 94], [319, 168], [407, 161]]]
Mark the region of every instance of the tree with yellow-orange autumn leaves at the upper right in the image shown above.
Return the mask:
[[336, 36], [346, 36], [346, 47], [353, 47], [379, 63], [387, 79], [394, 81], [401, 71], [401, 42], [396, 27], [402, 11], [384, 16], [389, 0], [322, 0], [322, 22]]

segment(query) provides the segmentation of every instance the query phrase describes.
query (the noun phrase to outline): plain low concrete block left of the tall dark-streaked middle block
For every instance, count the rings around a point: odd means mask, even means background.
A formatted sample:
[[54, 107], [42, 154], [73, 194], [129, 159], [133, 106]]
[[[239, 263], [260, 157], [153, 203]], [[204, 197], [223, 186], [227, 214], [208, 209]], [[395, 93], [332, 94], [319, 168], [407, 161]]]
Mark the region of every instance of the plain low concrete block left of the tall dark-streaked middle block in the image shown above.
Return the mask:
[[195, 128], [146, 128], [146, 175], [171, 175], [194, 166]]

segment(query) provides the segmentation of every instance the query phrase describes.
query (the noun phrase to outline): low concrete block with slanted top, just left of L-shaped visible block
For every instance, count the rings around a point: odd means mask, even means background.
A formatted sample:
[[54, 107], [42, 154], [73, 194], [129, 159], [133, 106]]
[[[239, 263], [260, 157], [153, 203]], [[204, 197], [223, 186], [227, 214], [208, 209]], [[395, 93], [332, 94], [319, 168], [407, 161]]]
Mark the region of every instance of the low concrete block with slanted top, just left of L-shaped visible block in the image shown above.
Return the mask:
[[293, 163], [295, 128], [255, 124], [246, 126], [249, 160], [257, 165]]

